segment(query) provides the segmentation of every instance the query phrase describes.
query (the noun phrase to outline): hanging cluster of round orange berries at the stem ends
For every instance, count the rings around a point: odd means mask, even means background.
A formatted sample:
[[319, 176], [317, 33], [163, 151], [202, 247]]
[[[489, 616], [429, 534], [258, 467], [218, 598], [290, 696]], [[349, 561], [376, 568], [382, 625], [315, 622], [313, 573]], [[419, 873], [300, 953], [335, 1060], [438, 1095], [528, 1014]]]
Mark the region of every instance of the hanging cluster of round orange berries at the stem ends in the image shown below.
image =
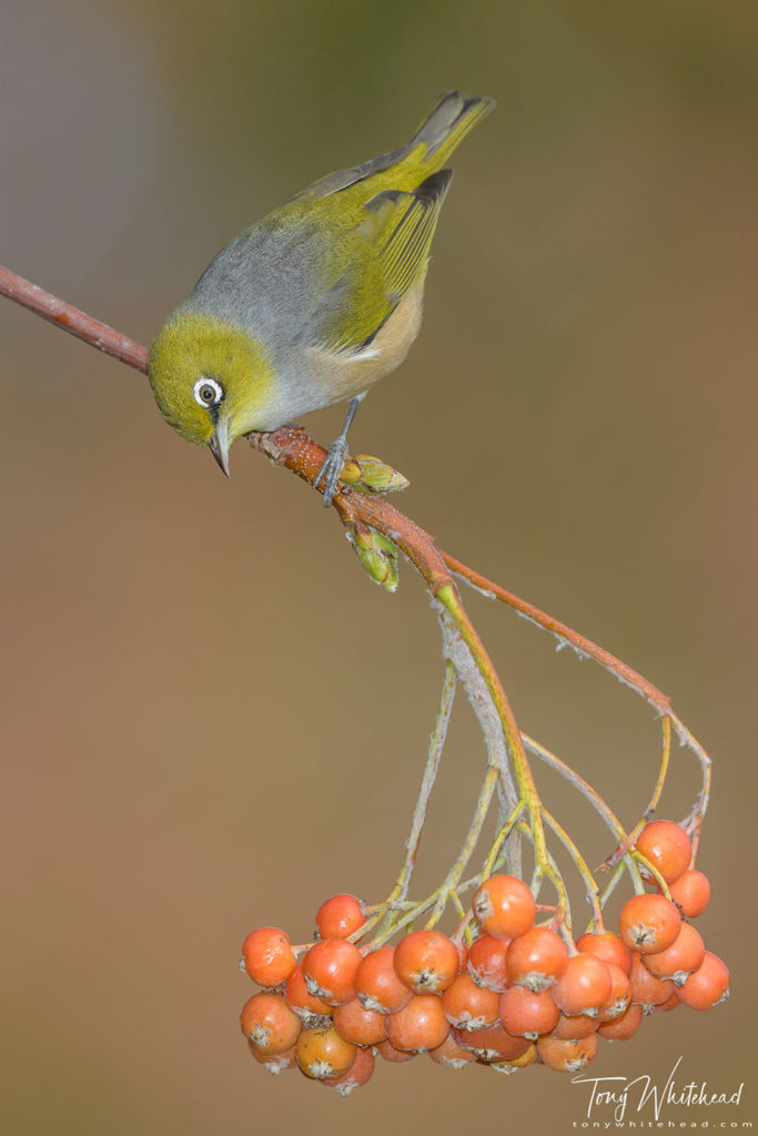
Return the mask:
[[468, 945], [467, 919], [452, 938], [414, 930], [397, 946], [361, 949], [352, 939], [366, 914], [353, 895], [326, 900], [309, 947], [293, 947], [274, 927], [251, 932], [241, 968], [265, 987], [241, 1014], [252, 1055], [272, 1072], [299, 1068], [342, 1095], [366, 1084], [376, 1055], [573, 1072], [593, 1060], [598, 1037], [628, 1038], [652, 1010], [710, 1009], [728, 993], [728, 971], [686, 921], [708, 902], [707, 878], [689, 868], [689, 837], [655, 821], [636, 847], [672, 900], [632, 896], [618, 934], [595, 929], [574, 943], [555, 919], [535, 926], [530, 888], [507, 875], [490, 876], [474, 894], [478, 934]]

